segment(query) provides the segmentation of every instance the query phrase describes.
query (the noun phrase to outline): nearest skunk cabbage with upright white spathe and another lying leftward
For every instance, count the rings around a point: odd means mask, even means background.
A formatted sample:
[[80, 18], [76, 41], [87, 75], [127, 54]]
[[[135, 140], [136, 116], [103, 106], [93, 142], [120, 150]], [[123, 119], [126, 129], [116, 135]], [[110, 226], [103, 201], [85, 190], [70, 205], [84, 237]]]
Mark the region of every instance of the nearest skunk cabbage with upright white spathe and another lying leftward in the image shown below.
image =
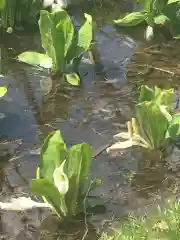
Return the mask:
[[60, 131], [52, 132], [41, 148], [36, 179], [30, 184], [31, 192], [41, 196], [44, 203], [21, 197], [11, 203], [0, 203], [0, 208], [18, 211], [45, 207], [52, 209], [60, 219], [85, 212], [91, 208], [90, 192], [102, 184], [99, 179], [88, 181], [91, 162], [92, 148], [88, 144], [67, 149]]

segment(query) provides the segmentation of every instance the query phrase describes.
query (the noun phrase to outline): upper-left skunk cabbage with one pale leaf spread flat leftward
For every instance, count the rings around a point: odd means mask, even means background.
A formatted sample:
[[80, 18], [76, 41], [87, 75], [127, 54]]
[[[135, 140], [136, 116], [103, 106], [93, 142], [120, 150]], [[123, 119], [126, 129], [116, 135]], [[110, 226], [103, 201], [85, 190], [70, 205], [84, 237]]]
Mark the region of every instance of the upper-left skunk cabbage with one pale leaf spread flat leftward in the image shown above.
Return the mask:
[[51, 69], [52, 75], [78, 85], [80, 78], [75, 71], [92, 41], [92, 18], [88, 14], [84, 16], [86, 20], [77, 30], [65, 10], [53, 13], [41, 10], [39, 29], [45, 53], [24, 52], [18, 60]]

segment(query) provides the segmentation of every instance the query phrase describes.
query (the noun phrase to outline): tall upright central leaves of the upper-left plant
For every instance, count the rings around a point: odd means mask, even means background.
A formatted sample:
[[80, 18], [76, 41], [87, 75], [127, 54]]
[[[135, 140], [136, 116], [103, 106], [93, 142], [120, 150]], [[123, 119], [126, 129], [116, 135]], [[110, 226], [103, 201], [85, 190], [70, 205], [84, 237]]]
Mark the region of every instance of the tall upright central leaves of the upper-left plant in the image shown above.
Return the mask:
[[53, 70], [64, 71], [64, 58], [71, 45], [74, 26], [65, 10], [49, 13], [40, 11], [39, 28], [42, 46], [47, 55], [52, 58]]

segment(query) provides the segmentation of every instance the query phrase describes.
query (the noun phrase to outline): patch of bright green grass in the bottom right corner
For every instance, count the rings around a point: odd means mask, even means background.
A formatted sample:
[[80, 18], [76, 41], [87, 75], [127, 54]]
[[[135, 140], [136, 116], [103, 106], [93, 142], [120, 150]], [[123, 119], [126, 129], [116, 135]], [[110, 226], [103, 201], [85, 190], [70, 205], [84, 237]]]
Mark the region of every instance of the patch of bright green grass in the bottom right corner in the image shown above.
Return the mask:
[[180, 202], [158, 206], [153, 215], [129, 217], [111, 235], [103, 234], [100, 240], [180, 240]]

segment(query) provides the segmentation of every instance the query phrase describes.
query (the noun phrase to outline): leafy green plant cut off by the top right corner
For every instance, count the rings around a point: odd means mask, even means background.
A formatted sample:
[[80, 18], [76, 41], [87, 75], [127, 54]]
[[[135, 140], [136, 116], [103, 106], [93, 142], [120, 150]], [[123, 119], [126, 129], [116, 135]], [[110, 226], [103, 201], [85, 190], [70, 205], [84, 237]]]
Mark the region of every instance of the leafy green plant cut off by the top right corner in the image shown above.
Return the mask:
[[132, 12], [125, 17], [114, 20], [114, 23], [120, 27], [132, 27], [138, 24], [146, 23], [146, 39], [152, 39], [154, 28], [161, 26], [168, 28], [174, 38], [180, 36], [180, 1], [179, 0], [142, 0], [144, 9], [138, 12]]

